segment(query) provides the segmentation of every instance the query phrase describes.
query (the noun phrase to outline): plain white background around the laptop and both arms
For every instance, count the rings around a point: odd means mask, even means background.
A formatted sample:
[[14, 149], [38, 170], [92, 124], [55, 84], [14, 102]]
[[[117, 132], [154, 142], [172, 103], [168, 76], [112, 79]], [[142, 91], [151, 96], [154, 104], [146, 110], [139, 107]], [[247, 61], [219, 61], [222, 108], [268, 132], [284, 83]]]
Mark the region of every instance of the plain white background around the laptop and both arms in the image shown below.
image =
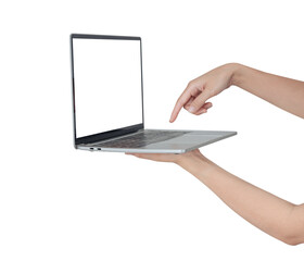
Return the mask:
[[143, 38], [147, 127], [232, 129], [211, 160], [304, 200], [304, 122], [231, 87], [168, 123], [227, 62], [304, 79], [302, 1], [5, 1], [0, 7], [0, 260], [303, 260], [173, 164], [73, 148], [71, 33]]

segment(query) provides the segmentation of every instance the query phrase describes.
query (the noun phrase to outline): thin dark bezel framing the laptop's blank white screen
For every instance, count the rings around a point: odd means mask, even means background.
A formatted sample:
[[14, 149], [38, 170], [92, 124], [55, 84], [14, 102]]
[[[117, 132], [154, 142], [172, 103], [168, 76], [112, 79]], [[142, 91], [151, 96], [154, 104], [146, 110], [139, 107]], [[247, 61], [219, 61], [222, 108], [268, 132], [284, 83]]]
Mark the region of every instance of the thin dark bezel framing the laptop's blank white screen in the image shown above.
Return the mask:
[[[75, 103], [75, 77], [74, 77], [74, 52], [73, 52], [73, 39], [112, 39], [112, 40], [139, 40], [140, 42], [140, 70], [141, 70], [141, 110], [142, 110], [142, 122], [136, 125], [126, 126], [117, 129], [111, 129], [103, 133], [92, 134], [77, 138], [76, 129], [76, 103]], [[142, 45], [141, 37], [137, 36], [112, 36], [112, 35], [85, 35], [85, 34], [71, 34], [71, 67], [72, 67], [72, 103], [73, 103], [73, 127], [74, 127], [74, 147], [77, 145], [93, 144], [110, 138], [115, 138], [122, 135], [135, 133], [139, 129], [144, 128], [144, 116], [143, 116], [143, 80], [142, 80]]]

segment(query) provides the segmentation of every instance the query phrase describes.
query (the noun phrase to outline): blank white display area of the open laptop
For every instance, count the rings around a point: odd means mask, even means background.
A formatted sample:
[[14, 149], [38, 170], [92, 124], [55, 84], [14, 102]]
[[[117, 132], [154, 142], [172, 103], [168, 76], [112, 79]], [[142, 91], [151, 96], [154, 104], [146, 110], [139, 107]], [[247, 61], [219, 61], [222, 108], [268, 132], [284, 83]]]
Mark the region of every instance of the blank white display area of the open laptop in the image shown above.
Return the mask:
[[142, 123], [140, 40], [73, 39], [76, 138]]

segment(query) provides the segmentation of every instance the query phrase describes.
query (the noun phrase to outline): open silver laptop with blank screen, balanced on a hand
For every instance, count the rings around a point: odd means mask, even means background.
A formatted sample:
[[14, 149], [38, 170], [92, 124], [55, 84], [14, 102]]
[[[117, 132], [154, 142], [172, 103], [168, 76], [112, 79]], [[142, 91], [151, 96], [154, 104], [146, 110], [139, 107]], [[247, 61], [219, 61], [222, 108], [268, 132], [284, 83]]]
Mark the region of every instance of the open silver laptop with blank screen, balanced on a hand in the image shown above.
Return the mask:
[[76, 149], [185, 153], [237, 134], [144, 128], [140, 37], [72, 34], [71, 60]]

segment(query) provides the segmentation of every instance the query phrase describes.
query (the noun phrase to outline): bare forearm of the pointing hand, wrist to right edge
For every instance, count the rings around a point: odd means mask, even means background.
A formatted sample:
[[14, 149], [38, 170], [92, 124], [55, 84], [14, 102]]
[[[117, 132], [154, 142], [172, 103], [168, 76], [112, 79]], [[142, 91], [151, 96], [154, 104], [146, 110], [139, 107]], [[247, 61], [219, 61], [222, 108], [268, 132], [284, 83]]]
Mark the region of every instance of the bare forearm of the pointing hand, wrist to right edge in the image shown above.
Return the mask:
[[294, 115], [304, 119], [304, 82], [264, 73], [241, 64], [231, 64], [236, 85]]

